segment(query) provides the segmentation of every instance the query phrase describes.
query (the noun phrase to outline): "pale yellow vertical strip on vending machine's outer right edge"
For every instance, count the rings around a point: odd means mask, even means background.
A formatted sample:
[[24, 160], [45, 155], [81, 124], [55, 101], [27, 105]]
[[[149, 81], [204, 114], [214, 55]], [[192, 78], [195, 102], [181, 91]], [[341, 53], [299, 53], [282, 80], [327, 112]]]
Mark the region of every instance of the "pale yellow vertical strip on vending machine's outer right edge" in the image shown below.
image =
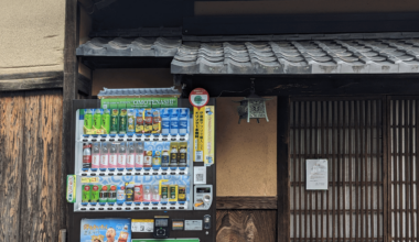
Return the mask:
[[205, 106], [204, 117], [204, 163], [205, 165], [214, 164], [214, 128], [215, 128], [215, 108]]

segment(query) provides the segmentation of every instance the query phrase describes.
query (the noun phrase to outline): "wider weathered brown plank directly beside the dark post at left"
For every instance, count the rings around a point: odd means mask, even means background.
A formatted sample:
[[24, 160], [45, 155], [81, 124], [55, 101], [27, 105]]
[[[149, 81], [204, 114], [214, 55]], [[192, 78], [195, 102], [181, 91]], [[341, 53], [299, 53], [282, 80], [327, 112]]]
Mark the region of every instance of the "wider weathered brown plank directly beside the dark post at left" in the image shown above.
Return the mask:
[[61, 178], [62, 91], [25, 95], [20, 241], [56, 241], [64, 190]]

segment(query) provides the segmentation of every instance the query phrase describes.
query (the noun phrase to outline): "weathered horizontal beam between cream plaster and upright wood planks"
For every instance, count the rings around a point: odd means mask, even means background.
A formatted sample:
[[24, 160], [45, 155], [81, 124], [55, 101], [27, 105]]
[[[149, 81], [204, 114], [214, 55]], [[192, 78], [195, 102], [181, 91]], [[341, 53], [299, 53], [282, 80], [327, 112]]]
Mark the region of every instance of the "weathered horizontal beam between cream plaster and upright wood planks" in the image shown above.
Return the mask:
[[63, 72], [26, 73], [0, 76], [0, 91], [51, 89], [63, 87]]

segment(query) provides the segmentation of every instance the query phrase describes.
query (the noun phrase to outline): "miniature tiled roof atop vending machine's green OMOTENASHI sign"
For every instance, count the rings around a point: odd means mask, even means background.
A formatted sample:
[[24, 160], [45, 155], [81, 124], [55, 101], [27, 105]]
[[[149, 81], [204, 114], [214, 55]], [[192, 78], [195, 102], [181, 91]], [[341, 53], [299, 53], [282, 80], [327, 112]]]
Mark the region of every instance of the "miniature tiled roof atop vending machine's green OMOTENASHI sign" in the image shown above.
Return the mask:
[[168, 88], [106, 88], [100, 90], [98, 97], [112, 96], [179, 96], [181, 92], [174, 87]]

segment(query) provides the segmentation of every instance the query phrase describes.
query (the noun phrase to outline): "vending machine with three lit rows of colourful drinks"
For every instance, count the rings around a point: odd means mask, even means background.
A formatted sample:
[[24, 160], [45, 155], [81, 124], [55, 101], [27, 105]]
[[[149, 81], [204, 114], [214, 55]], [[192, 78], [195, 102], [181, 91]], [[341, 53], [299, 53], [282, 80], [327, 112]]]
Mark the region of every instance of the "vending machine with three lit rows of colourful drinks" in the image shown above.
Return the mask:
[[68, 241], [215, 242], [215, 99], [148, 101], [73, 101]]

